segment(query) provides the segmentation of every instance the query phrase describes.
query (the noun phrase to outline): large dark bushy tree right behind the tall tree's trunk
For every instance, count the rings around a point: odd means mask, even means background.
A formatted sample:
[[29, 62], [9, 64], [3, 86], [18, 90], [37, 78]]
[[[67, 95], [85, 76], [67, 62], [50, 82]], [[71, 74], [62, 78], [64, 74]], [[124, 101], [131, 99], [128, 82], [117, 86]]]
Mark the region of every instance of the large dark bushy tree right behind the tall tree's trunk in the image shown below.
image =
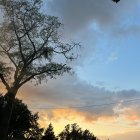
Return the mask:
[[[0, 110], [4, 105], [4, 97], [0, 95]], [[32, 114], [27, 105], [21, 100], [15, 99], [8, 129], [8, 140], [18, 138], [40, 139], [43, 129], [39, 128], [38, 118], [37, 113]]]

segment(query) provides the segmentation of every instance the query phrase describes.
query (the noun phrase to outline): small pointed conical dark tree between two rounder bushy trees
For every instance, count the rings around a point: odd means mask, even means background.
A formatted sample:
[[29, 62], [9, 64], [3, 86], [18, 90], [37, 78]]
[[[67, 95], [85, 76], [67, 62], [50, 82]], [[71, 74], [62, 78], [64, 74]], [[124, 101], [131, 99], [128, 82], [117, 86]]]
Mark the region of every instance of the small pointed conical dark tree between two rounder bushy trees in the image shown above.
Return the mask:
[[49, 124], [41, 140], [58, 140], [54, 134], [52, 124]]

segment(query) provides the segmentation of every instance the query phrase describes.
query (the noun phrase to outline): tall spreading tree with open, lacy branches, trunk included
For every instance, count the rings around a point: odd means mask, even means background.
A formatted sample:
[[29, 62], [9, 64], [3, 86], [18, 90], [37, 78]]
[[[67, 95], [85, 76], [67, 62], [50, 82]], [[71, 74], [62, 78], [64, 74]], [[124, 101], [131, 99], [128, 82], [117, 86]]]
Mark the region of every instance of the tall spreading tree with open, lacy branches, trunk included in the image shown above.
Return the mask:
[[79, 44], [61, 42], [62, 24], [41, 12], [41, 0], [2, 0], [0, 4], [5, 15], [0, 25], [0, 80], [7, 90], [0, 138], [5, 140], [19, 88], [31, 80], [41, 83], [69, 72], [67, 62], [75, 58], [72, 50]]

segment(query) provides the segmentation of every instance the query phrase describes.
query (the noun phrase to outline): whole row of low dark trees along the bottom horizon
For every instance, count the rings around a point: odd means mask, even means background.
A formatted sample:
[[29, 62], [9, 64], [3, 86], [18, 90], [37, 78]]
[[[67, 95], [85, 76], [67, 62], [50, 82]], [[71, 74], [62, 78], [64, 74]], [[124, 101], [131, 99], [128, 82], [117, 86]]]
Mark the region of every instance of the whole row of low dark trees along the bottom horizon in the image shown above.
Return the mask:
[[[0, 95], [0, 111], [5, 104], [5, 97]], [[22, 100], [16, 98], [8, 140], [99, 140], [89, 130], [82, 130], [76, 123], [66, 125], [64, 130], [56, 136], [52, 124], [49, 124], [46, 129], [41, 128], [38, 119], [38, 113], [33, 114]]]

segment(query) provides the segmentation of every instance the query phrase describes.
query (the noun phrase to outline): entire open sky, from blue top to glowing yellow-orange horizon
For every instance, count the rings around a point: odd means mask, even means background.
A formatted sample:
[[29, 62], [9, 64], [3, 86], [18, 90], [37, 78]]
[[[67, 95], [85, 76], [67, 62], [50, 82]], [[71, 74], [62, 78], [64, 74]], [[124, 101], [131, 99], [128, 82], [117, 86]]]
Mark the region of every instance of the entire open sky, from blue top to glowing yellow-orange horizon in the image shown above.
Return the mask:
[[102, 140], [139, 140], [140, 1], [45, 0], [42, 10], [64, 24], [63, 41], [82, 47], [73, 75], [28, 83], [18, 97], [56, 133], [78, 123]]

